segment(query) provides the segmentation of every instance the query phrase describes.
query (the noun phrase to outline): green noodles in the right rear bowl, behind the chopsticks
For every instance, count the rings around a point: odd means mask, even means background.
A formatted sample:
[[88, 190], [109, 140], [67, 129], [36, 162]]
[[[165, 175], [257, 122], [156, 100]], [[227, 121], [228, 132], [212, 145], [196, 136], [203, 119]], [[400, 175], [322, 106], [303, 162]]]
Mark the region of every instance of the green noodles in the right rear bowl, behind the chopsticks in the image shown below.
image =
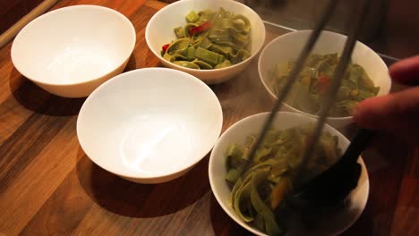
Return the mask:
[[[338, 54], [309, 56], [293, 89], [286, 97], [286, 104], [309, 114], [319, 114], [338, 60]], [[285, 86], [293, 65], [294, 62], [278, 63], [271, 84], [276, 94]], [[351, 115], [358, 102], [376, 96], [379, 90], [379, 87], [374, 87], [362, 66], [349, 63], [338, 89], [337, 101], [329, 116]]]

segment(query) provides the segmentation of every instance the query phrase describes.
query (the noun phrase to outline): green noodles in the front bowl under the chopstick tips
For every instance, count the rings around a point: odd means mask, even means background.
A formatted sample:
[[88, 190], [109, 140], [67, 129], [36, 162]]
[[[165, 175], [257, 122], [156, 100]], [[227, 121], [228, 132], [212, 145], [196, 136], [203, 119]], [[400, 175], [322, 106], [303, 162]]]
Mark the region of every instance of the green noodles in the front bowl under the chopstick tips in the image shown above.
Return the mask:
[[[301, 162], [304, 146], [312, 130], [313, 125], [309, 124], [283, 131], [269, 131], [249, 163], [248, 154], [255, 136], [247, 137], [243, 147], [237, 144], [227, 147], [226, 181], [232, 187], [230, 202], [244, 222], [269, 235], [286, 233], [278, 214], [286, 206], [286, 193], [293, 188], [295, 168]], [[323, 132], [304, 180], [324, 171], [340, 155], [338, 137]]]

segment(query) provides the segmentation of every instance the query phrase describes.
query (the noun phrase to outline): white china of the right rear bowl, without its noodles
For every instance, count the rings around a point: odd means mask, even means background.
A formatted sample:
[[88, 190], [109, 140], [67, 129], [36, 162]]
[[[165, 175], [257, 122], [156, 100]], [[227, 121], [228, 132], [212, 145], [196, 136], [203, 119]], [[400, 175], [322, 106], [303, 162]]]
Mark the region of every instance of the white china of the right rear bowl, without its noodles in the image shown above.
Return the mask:
[[[274, 99], [277, 99], [277, 97], [269, 85], [272, 80], [275, 67], [280, 62], [296, 60], [298, 55], [300, 55], [305, 42], [310, 37], [311, 32], [312, 30], [302, 30], [279, 36], [278, 38], [272, 40], [261, 52], [258, 64], [259, 75], [263, 85], [269, 91], [270, 96], [274, 97]], [[321, 33], [321, 37], [314, 46], [312, 53], [321, 55], [333, 53], [340, 54], [345, 46], [345, 42], [346, 36], [329, 31], [323, 31]], [[389, 90], [391, 89], [389, 71], [386, 63], [382, 61], [379, 55], [372, 51], [372, 49], [368, 46], [363, 45], [363, 43], [357, 42], [352, 54], [352, 60], [354, 63], [358, 63], [363, 66], [375, 86], [380, 86], [378, 96], [389, 94]], [[285, 103], [284, 108], [286, 111], [306, 114], [291, 105], [286, 105]], [[312, 116], [317, 117], [316, 115]], [[328, 123], [335, 128], [342, 128], [351, 122], [353, 122], [352, 116], [329, 117], [328, 119]]]

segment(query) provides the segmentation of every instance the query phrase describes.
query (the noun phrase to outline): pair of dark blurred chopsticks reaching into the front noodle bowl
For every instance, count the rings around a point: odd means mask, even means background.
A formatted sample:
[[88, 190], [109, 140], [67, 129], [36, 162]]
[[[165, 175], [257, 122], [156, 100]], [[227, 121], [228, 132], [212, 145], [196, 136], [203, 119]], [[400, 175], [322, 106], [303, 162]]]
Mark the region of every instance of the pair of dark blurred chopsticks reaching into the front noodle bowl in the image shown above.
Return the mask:
[[[333, 74], [333, 79], [331, 80], [331, 85], [327, 94], [326, 102], [321, 109], [321, 114], [319, 115], [318, 122], [312, 134], [312, 139], [308, 141], [307, 147], [304, 150], [302, 162], [297, 167], [295, 180], [294, 180], [295, 182], [298, 182], [298, 180], [301, 177], [301, 174], [304, 173], [308, 160], [312, 156], [314, 147], [316, 146], [318, 140], [321, 137], [321, 131], [329, 115], [329, 110], [336, 100], [338, 89], [341, 84], [341, 80], [343, 79], [343, 76], [346, 72], [347, 64], [351, 60], [351, 55], [355, 48], [356, 38], [358, 37], [360, 33], [361, 24], [365, 20], [369, 2], [370, 2], [369, 0], [361, 0], [360, 14], [358, 15], [358, 17], [355, 17], [356, 18], [355, 22], [354, 24], [352, 24], [353, 27], [352, 29], [349, 30], [349, 34], [348, 34], [348, 38], [346, 39], [344, 50], [339, 60], [337, 69], [335, 73]], [[315, 45], [316, 41], [320, 37], [321, 31], [325, 28], [326, 23], [329, 21], [330, 16], [335, 11], [337, 5], [338, 5], [338, 0], [330, 0], [326, 8], [324, 9], [324, 12], [322, 13], [322, 16], [321, 16], [321, 20], [318, 21], [317, 24], [315, 25], [310, 38], [308, 39], [307, 43], [304, 45], [301, 54], [299, 55], [292, 71], [290, 72], [289, 77], [287, 78], [284, 89], [278, 95], [278, 99], [276, 103], [273, 105], [273, 108], [269, 114], [267, 121], [263, 124], [261, 133], [258, 136], [258, 139], [255, 141], [255, 144], [252, 146], [246, 165], [252, 161], [253, 156], [256, 153], [256, 150], [261, 146], [263, 139], [265, 139], [266, 134], [272, 125], [272, 122], [275, 120], [278, 110], [281, 108], [281, 105], [285, 101], [286, 96], [288, 95], [289, 91], [293, 88], [293, 85], [295, 84], [295, 80], [297, 80], [298, 75], [303, 70], [304, 63], [307, 57], [312, 52], [313, 46]]]

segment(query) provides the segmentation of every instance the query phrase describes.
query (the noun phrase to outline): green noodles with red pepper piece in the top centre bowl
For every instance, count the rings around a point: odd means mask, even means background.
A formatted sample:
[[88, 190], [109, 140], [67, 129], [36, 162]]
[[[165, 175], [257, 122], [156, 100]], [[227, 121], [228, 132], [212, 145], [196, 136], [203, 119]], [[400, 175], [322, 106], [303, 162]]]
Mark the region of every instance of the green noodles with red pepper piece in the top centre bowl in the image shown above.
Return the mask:
[[[205, 10], [186, 15], [187, 24], [174, 29], [177, 39], [162, 46], [172, 63], [201, 70], [225, 68], [250, 57], [251, 25], [241, 14]], [[189, 63], [187, 63], [189, 62]]]

